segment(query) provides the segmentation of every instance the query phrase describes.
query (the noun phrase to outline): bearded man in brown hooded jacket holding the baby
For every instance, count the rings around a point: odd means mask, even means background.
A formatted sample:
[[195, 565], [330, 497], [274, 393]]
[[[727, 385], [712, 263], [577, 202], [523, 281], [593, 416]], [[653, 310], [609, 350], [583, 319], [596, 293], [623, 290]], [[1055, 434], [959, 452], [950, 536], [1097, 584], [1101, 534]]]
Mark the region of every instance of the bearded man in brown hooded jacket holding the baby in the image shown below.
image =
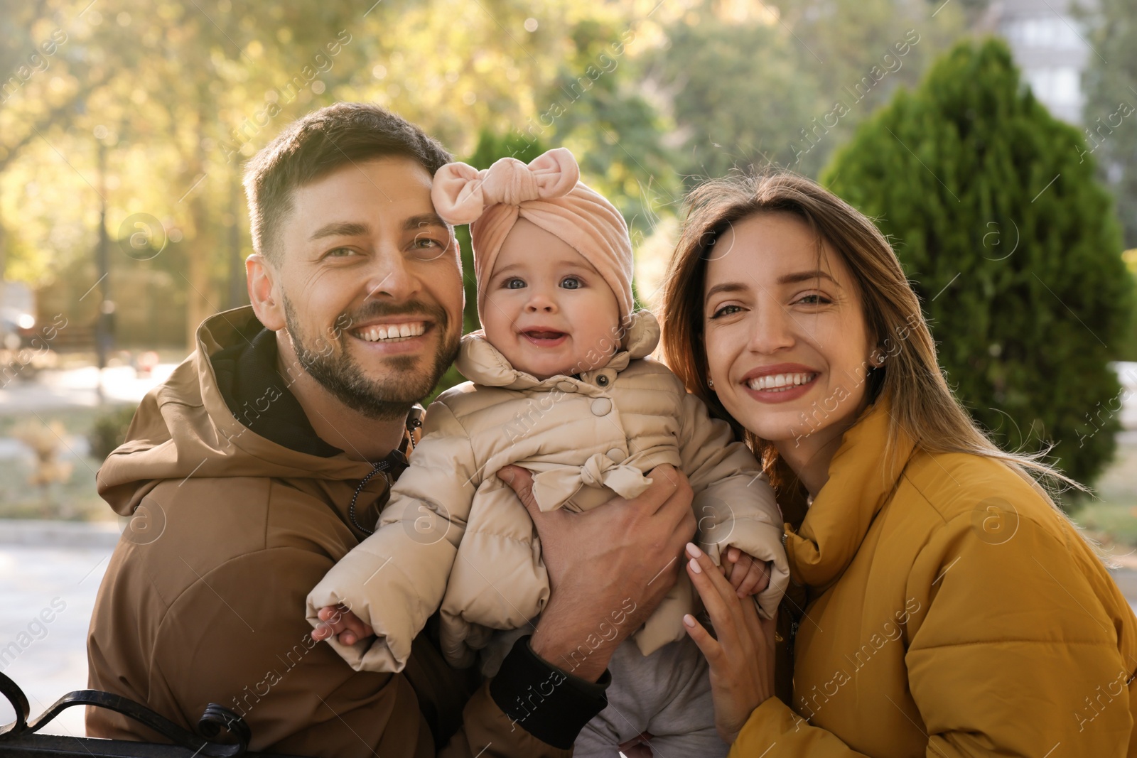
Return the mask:
[[[458, 250], [430, 200], [449, 159], [359, 103], [300, 119], [252, 159], [252, 306], [201, 325], [99, 472], [102, 497], [133, 518], [91, 620], [92, 688], [188, 728], [219, 702], [254, 750], [329, 758], [566, 756], [604, 708], [613, 649], [694, 534], [673, 470], [576, 515], [540, 514], [528, 474], [503, 474], [534, 516], [553, 593], [491, 682], [447, 666], [430, 624], [404, 672], [379, 674], [354, 672], [305, 620], [308, 591], [374, 526], [413, 455], [408, 414], [457, 348]], [[628, 599], [634, 611], [604, 639]], [[316, 636], [351, 634], [332, 622]], [[157, 739], [107, 710], [86, 723]]]

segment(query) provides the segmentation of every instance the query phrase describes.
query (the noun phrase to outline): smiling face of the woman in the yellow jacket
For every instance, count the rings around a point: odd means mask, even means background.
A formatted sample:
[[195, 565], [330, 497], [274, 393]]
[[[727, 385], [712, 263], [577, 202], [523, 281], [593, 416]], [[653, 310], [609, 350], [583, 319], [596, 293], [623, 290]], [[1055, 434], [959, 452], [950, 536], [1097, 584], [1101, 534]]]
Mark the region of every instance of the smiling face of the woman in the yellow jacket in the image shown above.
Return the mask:
[[723, 407], [783, 453], [843, 434], [875, 364], [841, 258], [782, 213], [735, 223], [706, 255], [704, 339]]

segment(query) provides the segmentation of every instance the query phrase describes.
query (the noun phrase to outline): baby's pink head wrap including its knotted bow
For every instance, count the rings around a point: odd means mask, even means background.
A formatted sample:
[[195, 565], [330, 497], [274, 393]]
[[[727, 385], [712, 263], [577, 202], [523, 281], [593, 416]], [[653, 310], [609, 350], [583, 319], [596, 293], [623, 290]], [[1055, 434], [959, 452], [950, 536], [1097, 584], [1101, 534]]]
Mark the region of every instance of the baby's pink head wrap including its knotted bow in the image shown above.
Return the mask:
[[549, 150], [528, 166], [515, 158], [501, 158], [481, 172], [463, 163], [447, 164], [434, 174], [431, 199], [447, 223], [471, 224], [479, 317], [498, 252], [518, 218], [583, 256], [615, 293], [621, 322], [631, 315], [628, 225], [615, 206], [580, 182], [576, 159], [565, 148]]

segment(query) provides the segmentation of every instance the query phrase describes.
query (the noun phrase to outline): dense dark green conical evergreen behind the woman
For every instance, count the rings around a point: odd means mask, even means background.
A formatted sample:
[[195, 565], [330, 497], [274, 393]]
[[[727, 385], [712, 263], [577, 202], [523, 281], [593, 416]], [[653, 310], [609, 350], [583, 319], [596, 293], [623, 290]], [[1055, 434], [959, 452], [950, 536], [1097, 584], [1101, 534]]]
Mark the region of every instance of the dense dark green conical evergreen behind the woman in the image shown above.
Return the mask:
[[956, 395], [1004, 445], [1093, 482], [1113, 455], [1106, 364], [1132, 309], [1109, 193], [1078, 131], [964, 42], [857, 130], [823, 181], [893, 240]]

